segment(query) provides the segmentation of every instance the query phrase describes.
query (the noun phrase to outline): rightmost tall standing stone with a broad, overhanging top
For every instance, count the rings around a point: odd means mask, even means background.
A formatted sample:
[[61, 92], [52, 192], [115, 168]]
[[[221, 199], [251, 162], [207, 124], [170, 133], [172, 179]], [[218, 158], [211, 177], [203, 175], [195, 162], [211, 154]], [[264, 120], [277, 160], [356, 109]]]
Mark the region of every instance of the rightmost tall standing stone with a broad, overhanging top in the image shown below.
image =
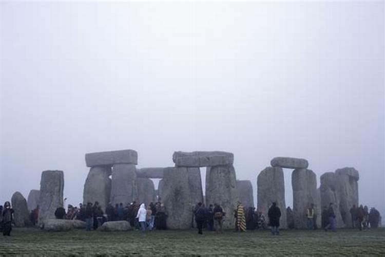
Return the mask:
[[352, 227], [350, 208], [358, 206], [358, 171], [354, 168], [343, 168], [336, 170], [339, 186], [339, 208], [341, 218], [346, 227]]

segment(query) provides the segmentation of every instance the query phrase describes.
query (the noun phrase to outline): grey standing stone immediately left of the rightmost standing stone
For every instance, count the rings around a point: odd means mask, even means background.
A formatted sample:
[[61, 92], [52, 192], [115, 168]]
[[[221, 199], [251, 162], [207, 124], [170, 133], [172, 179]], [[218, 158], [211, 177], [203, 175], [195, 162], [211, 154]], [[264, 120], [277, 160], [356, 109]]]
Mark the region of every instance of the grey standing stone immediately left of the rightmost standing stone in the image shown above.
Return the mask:
[[321, 176], [321, 208], [326, 206], [329, 208], [329, 204], [333, 203], [334, 214], [336, 215], [336, 227], [343, 228], [344, 223], [342, 221], [340, 206], [340, 197], [338, 192], [339, 181], [338, 176], [334, 172], [326, 172]]

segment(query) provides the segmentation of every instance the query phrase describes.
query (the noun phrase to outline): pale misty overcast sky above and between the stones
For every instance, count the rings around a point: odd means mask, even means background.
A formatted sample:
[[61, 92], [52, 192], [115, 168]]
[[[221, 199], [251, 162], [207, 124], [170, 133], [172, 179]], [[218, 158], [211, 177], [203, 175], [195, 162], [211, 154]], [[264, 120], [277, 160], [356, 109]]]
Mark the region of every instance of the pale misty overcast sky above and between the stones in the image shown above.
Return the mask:
[[385, 214], [382, 1], [0, 6], [1, 204], [44, 170], [80, 203], [89, 152], [167, 167], [222, 150], [255, 201], [259, 172], [291, 156], [317, 187], [355, 167], [360, 203]]

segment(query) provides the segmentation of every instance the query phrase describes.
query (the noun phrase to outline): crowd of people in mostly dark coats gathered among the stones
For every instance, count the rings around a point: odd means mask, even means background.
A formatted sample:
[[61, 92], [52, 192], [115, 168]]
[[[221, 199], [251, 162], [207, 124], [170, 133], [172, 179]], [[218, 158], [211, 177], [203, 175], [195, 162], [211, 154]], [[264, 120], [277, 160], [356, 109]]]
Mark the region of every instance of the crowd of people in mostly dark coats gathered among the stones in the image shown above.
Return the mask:
[[[153, 229], [165, 230], [167, 229], [167, 211], [161, 199], [157, 203], [150, 203], [147, 207], [144, 203], [133, 203], [123, 206], [122, 203], [112, 206], [109, 203], [105, 210], [99, 205], [98, 201], [95, 203], [87, 203], [87, 205], [79, 204], [79, 207], [68, 205], [67, 212], [63, 207], [55, 210], [55, 217], [57, 219], [78, 219], [86, 223], [86, 230], [96, 230], [107, 221], [127, 221], [131, 227], [142, 230], [151, 231]], [[294, 219], [290, 220], [293, 211], [290, 207], [287, 211], [287, 225], [289, 229], [295, 227]], [[13, 209], [9, 201], [3, 206], [0, 206], [0, 231], [4, 235], [10, 235], [13, 222]], [[30, 212], [30, 222], [33, 226], [37, 225], [39, 207], [37, 206]], [[378, 228], [381, 221], [381, 216], [376, 208], [369, 208], [360, 205], [352, 206], [350, 209], [351, 227], [359, 230], [368, 228]], [[315, 206], [311, 204], [306, 213], [306, 224], [308, 229], [317, 229], [317, 215]], [[235, 231], [244, 232], [246, 230], [266, 229], [271, 227], [273, 235], [279, 235], [281, 210], [276, 203], [272, 203], [268, 209], [267, 218], [262, 211], [256, 210], [254, 207], [243, 207], [238, 201], [234, 211]], [[191, 228], [197, 227], [198, 233], [203, 234], [203, 229], [208, 231], [216, 231], [222, 233], [223, 219], [227, 218], [226, 213], [219, 204], [210, 204], [206, 207], [202, 203], [192, 207]], [[343, 222], [345, 221], [342, 215]], [[325, 231], [336, 231], [336, 215], [333, 203], [329, 207], [324, 206], [321, 213], [321, 226]]]

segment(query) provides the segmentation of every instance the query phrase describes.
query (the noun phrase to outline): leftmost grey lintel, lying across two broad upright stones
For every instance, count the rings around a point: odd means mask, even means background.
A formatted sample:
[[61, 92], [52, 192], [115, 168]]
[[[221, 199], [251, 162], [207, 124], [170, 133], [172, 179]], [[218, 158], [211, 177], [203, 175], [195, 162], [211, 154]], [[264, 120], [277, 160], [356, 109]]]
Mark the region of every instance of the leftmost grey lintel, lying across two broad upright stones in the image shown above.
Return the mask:
[[114, 164], [138, 164], [138, 153], [134, 150], [120, 150], [86, 154], [87, 167], [113, 166]]

